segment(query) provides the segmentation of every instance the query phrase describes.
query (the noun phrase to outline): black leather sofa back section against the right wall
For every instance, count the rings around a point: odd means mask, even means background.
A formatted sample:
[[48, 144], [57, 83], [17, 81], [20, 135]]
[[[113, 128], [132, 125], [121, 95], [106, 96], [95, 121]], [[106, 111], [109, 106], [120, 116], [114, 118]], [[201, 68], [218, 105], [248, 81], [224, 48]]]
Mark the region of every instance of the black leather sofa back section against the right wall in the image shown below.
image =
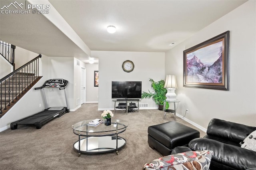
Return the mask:
[[256, 130], [256, 127], [228, 122], [221, 119], [212, 119], [207, 128], [207, 135], [204, 136], [204, 138], [211, 138], [240, 147], [240, 142], [254, 130]]

